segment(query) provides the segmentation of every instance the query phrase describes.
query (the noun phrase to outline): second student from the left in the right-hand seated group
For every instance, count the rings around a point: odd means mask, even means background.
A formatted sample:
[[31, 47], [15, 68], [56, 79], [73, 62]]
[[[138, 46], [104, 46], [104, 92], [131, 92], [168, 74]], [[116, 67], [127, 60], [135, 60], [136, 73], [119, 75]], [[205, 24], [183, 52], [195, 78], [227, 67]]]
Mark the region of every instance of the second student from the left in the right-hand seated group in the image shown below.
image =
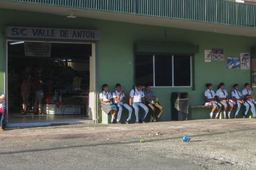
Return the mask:
[[228, 117], [230, 118], [230, 114], [232, 112], [234, 104], [228, 100], [228, 92], [225, 90], [224, 83], [220, 83], [220, 85], [218, 85], [218, 90], [216, 91], [216, 98], [218, 102], [220, 102], [224, 106], [224, 118], [227, 118], [226, 111], [228, 110], [229, 107]]

